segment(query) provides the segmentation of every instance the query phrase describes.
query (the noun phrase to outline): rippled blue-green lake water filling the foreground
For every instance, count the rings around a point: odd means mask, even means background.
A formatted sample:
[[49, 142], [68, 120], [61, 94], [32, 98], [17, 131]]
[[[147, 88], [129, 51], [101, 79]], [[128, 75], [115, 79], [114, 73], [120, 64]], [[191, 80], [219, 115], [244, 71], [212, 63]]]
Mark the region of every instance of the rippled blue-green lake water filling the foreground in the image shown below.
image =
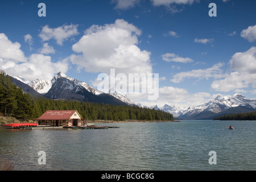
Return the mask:
[[[105, 123], [105, 130], [0, 129], [14, 170], [255, 170], [256, 121]], [[228, 126], [235, 127], [229, 130]], [[46, 164], [38, 164], [39, 151]], [[216, 164], [209, 164], [210, 151]], [[213, 160], [212, 160], [213, 161]]]

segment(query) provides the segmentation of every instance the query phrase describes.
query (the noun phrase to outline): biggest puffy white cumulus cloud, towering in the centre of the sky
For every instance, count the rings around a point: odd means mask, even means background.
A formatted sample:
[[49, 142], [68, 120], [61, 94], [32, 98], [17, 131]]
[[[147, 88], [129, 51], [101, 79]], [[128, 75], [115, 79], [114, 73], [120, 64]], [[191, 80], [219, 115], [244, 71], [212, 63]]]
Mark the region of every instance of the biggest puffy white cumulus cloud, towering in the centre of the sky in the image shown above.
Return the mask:
[[141, 30], [123, 19], [104, 26], [93, 25], [73, 45], [73, 51], [81, 53], [70, 59], [86, 72], [151, 73], [150, 52], [138, 47]]

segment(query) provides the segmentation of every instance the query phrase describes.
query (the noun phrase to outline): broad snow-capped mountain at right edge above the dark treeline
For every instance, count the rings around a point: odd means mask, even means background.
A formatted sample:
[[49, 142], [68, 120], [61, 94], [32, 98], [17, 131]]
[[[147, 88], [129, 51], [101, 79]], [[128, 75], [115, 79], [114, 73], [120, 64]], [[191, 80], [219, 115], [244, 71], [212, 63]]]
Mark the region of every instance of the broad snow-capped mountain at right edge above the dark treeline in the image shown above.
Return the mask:
[[256, 101], [248, 100], [239, 93], [236, 93], [231, 97], [218, 95], [213, 101], [209, 101], [204, 105], [188, 107], [188, 109], [184, 110], [179, 115], [179, 118], [213, 118], [215, 115], [221, 115], [222, 113], [233, 114], [232, 112], [234, 111], [242, 112], [255, 109]]

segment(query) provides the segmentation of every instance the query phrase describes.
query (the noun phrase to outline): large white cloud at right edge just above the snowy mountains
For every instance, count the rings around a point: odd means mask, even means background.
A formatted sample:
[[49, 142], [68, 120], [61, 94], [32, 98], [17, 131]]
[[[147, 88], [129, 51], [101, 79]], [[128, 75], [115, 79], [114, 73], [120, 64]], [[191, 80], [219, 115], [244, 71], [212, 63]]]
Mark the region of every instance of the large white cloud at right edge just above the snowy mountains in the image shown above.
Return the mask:
[[237, 52], [229, 61], [233, 71], [222, 80], [212, 82], [212, 89], [221, 92], [247, 88], [250, 84], [256, 87], [256, 47], [245, 52]]

